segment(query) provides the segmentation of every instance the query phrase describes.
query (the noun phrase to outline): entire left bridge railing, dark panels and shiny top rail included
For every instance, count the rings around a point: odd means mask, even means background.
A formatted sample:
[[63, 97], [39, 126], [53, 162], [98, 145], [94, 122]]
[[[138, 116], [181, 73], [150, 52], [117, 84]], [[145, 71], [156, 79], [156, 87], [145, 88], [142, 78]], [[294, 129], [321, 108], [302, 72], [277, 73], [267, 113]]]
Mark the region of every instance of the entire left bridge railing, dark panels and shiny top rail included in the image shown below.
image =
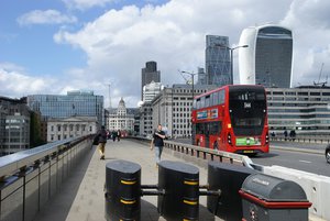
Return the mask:
[[32, 221], [90, 150], [92, 137], [67, 139], [0, 157], [0, 221]]

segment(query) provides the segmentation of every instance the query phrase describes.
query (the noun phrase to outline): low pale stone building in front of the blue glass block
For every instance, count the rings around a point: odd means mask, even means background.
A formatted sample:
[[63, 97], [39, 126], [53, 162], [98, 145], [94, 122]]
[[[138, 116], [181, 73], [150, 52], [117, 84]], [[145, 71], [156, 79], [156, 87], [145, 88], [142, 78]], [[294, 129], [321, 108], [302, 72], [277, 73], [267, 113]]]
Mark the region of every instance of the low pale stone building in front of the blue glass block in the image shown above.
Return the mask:
[[98, 131], [96, 117], [51, 118], [47, 120], [47, 142], [62, 141]]

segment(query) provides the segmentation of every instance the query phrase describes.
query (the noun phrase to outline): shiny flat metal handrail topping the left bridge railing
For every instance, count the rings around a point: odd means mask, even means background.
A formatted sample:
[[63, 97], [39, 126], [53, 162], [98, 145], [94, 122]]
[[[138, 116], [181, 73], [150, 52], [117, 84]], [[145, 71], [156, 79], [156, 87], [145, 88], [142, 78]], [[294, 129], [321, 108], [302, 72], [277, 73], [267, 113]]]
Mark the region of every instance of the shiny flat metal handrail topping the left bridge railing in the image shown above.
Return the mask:
[[10, 176], [26, 166], [35, 164], [47, 156], [57, 154], [58, 152], [79, 143], [91, 135], [84, 135], [79, 137], [70, 137], [63, 141], [47, 143], [35, 148], [21, 151], [14, 154], [0, 157], [0, 179], [4, 176]]

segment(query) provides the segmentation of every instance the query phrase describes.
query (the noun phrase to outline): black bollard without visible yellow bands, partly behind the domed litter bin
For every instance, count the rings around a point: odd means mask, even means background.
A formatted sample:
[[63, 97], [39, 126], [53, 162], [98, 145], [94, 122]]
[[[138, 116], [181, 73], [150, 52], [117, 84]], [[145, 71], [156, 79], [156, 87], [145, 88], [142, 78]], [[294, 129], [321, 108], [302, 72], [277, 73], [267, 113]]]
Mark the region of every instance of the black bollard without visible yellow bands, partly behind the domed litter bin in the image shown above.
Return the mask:
[[209, 190], [221, 190], [220, 198], [207, 197], [207, 207], [216, 216], [223, 220], [241, 220], [243, 216], [242, 199], [239, 190], [245, 178], [257, 172], [239, 165], [209, 162], [208, 185]]

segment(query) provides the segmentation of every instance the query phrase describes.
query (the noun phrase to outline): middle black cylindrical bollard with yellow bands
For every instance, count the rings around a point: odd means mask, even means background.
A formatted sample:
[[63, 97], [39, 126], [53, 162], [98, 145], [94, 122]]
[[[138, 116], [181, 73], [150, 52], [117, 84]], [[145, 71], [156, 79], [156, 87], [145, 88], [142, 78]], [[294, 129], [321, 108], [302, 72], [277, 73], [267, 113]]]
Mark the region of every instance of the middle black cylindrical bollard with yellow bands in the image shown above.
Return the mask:
[[162, 161], [158, 165], [158, 212], [166, 220], [198, 220], [199, 169], [180, 162]]

